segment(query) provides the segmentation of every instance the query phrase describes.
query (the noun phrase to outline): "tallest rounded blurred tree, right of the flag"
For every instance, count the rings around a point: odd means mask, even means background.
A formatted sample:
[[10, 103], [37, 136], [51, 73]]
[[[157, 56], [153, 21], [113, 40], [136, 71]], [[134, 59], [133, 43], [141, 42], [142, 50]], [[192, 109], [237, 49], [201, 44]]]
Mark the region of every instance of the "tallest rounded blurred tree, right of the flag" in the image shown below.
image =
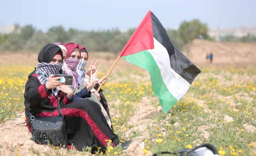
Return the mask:
[[179, 27], [180, 37], [185, 42], [188, 43], [192, 39], [198, 38], [198, 35], [202, 35], [204, 39], [209, 39], [207, 34], [208, 26], [207, 24], [202, 24], [199, 20], [194, 19], [191, 22], [184, 21]]

